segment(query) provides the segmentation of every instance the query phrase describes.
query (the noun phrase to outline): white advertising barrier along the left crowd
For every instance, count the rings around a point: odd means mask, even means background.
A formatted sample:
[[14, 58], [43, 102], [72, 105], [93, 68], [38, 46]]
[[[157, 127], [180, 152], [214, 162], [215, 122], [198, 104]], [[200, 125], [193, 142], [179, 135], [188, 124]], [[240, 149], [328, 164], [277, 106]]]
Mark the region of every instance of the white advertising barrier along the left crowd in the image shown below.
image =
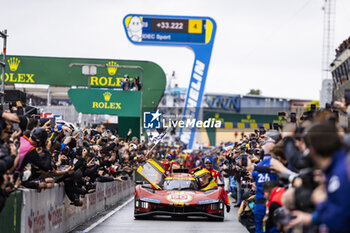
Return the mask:
[[70, 205], [64, 188], [58, 185], [40, 193], [35, 190], [22, 190], [21, 217], [14, 220], [16, 216], [10, 214], [11, 221], [5, 222], [5, 227], [10, 229], [8, 232], [15, 232], [11, 230], [15, 229], [13, 226], [15, 222], [20, 224], [21, 233], [69, 232], [133, 192], [132, 180], [121, 183], [96, 183], [96, 192], [86, 195], [82, 199], [83, 206], [76, 207]]

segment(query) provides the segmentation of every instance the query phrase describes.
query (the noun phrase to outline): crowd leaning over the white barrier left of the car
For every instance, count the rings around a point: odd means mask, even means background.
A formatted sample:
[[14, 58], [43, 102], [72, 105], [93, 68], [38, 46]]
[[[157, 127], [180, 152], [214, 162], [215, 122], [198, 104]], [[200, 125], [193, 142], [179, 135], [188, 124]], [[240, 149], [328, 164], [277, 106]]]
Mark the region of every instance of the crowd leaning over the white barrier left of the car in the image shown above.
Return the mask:
[[136, 137], [113, 135], [105, 125], [75, 130], [21, 106], [0, 112], [0, 212], [17, 189], [64, 186], [72, 205], [95, 192], [96, 182], [132, 179], [149, 149]]

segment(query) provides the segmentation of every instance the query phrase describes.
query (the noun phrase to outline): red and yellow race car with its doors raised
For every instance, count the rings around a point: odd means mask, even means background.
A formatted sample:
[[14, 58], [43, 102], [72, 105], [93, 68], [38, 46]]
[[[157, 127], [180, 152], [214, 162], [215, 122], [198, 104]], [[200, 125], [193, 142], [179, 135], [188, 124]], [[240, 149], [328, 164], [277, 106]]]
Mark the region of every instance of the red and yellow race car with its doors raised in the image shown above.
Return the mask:
[[137, 182], [135, 187], [135, 219], [168, 215], [224, 220], [224, 189], [208, 170], [189, 174], [186, 169], [176, 169], [165, 176], [163, 165], [149, 159], [137, 172], [147, 182]]

